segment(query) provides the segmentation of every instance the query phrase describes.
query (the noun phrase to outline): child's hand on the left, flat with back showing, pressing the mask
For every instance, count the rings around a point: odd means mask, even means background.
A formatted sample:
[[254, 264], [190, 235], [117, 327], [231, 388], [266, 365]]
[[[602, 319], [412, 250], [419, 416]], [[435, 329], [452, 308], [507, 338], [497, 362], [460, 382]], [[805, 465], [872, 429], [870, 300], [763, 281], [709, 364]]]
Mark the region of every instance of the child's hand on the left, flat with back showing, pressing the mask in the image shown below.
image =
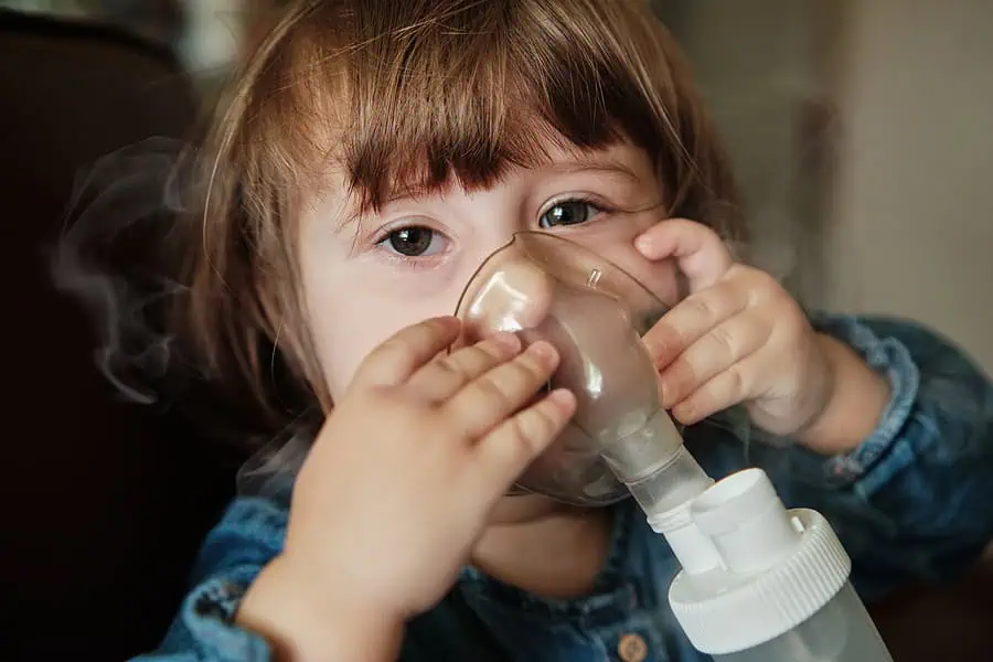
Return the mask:
[[282, 560], [350, 609], [406, 619], [455, 581], [496, 501], [558, 435], [575, 398], [523, 408], [558, 356], [512, 334], [439, 356], [452, 318], [374, 350], [300, 471]]

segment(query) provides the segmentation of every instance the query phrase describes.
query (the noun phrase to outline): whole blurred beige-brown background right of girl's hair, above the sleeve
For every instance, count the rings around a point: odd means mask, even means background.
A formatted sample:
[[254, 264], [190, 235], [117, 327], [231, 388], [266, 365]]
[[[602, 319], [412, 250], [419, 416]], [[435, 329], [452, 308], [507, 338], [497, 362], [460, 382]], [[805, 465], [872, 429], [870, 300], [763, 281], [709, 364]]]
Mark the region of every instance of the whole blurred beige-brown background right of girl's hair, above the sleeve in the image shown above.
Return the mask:
[[654, 0], [738, 161], [757, 260], [993, 369], [993, 6]]

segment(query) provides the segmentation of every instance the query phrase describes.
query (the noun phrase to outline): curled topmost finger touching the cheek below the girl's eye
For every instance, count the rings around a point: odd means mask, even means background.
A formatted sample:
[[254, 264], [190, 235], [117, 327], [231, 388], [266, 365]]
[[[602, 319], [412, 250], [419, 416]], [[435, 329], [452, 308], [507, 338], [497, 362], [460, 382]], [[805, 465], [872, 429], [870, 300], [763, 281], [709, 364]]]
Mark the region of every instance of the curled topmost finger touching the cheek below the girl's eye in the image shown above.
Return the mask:
[[734, 263], [717, 233], [686, 218], [669, 218], [653, 225], [634, 239], [634, 247], [653, 261], [675, 259], [688, 280], [691, 293], [717, 282]]

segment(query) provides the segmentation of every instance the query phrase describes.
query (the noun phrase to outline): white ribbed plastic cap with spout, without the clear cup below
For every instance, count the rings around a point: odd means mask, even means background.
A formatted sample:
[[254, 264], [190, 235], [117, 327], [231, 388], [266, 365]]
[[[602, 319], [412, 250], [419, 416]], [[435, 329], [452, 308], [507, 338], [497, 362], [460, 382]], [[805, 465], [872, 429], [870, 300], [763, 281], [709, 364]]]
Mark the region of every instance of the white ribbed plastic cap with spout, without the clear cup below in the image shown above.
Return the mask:
[[775, 639], [848, 580], [851, 559], [828, 521], [810, 510], [787, 511], [760, 469], [717, 482], [693, 502], [691, 515], [725, 568], [718, 584], [684, 572], [670, 587], [673, 613], [701, 652], [727, 654]]

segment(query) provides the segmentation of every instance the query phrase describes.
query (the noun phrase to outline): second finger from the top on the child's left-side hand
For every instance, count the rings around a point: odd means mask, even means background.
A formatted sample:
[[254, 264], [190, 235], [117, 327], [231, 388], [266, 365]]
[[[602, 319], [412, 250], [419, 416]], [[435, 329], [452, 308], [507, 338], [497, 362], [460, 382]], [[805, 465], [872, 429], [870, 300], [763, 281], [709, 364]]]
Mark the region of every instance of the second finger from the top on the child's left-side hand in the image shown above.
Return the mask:
[[521, 340], [516, 335], [496, 333], [431, 361], [414, 373], [407, 385], [428, 402], [440, 403], [487, 371], [513, 359], [520, 351]]

